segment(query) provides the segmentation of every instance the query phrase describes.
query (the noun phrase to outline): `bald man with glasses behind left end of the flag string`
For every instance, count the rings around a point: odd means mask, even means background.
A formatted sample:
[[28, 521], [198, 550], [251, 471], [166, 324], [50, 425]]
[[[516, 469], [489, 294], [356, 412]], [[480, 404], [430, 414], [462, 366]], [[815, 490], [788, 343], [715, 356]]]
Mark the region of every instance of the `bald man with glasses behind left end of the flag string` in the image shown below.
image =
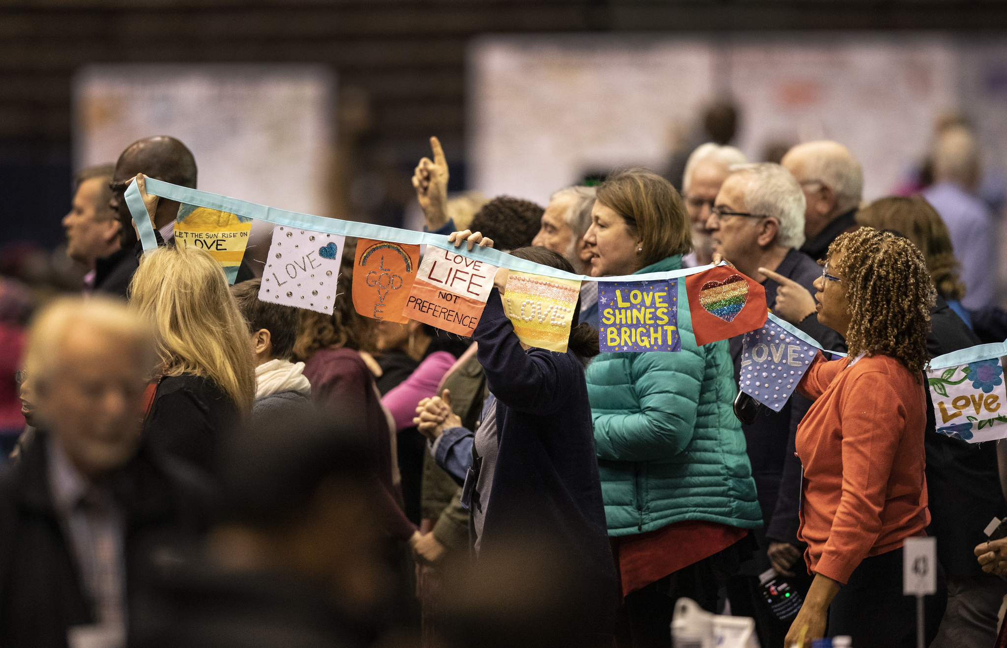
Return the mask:
[[[116, 169], [112, 177], [110, 187], [112, 197], [109, 206], [118, 214], [120, 227], [120, 242], [123, 250], [132, 250], [134, 254], [125, 255], [118, 265], [109, 271], [101, 285], [97, 285], [95, 290], [127, 298], [129, 283], [133, 279], [133, 273], [139, 266], [140, 256], [143, 248], [139, 242], [136, 227], [133, 225], [133, 216], [126, 204], [126, 187], [130, 181], [136, 177], [137, 173], [143, 173], [147, 177], [171, 184], [194, 189], [196, 186], [196, 165], [192, 152], [184, 144], [173, 137], [167, 135], [156, 135], [146, 137], [133, 142], [116, 162]], [[174, 200], [163, 198], [157, 201], [157, 210], [154, 213], [154, 236], [158, 246], [173, 246], [175, 216], [178, 214], [179, 203]], [[254, 279], [255, 275], [245, 261], [242, 261], [238, 269], [238, 277], [235, 283], [241, 283]]]

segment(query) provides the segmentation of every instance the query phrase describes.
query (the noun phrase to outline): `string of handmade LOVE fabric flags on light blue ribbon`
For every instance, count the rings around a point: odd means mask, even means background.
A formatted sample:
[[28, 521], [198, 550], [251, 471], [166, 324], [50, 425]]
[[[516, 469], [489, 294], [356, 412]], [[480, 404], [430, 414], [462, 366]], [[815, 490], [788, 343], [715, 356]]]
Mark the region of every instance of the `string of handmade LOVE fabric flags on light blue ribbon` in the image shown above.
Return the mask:
[[[597, 279], [489, 248], [455, 248], [447, 236], [313, 216], [146, 178], [146, 191], [180, 203], [176, 246], [206, 250], [233, 283], [252, 221], [273, 229], [259, 298], [331, 313], [346, 236], [357, 238], [351, 298], [361, 315], [418, 320], [470, 336], [499, 268], [508, 268], [505, 312], [526, 344], [566, 351], [582, 281], [598, 282], [602, 352], [676, 352], [679, 318], [692, 319], [698, 345], [744, 335], [738, 387], [779, 412], [818, 350], [814, 338], [768, 312], [761, 285], [726, 265]], [[156, 248], [135, 182], [126, 191], [145, 254]], [[420, 246], [427, 251], [420, 257]], [[682, 280], [682, 281], [680, 281]], [[834, 357], [843, 353], [829, 351]], [[938, 432], [971, 443], [1007, 437], [1001, 356], [1007, 341], [930, 361], [927, 380]]]

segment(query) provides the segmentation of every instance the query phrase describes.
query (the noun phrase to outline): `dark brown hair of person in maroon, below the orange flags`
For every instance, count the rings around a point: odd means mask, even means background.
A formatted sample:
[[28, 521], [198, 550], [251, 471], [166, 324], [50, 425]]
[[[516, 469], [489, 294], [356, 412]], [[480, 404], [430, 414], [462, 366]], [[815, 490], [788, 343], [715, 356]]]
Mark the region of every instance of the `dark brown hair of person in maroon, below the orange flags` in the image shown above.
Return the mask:
[[332, 300], [332, 314], [301, 309], [294, 358], [307, 362], [316, 351], [344, 346], [354, 351], [373, 351], [374, 327], [368, 318], [356, 312], [350, 297], [353, 285], [353, 260], [356, 240], [346, 239], [339, 263], [339, 291]]

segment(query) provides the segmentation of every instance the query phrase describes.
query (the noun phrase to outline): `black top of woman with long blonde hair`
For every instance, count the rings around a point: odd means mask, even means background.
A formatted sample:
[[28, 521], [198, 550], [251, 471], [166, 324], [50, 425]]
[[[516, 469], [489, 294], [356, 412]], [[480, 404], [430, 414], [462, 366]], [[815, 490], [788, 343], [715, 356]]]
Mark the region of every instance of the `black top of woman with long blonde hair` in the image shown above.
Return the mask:
[[211, 472], [221, 435], [240, 419], [238, 404], [220, 385], [183, 373], [157, 383], [143, 434], [154, 448]]

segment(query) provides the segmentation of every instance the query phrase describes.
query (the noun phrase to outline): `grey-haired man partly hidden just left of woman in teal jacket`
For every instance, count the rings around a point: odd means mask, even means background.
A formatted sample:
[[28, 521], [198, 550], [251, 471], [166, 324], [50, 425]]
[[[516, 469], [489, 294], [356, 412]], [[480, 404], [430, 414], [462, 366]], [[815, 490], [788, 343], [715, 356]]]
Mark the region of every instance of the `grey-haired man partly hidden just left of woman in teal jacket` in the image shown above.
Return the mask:
[[[594, 187], [573, 186], [560, 189], [549, 197], [542, 214], [542, 228], [532, 239], [563, 257], [575, 273], [590, 275], [590, 246], [584, 240], [591, 226]], [[580, 321], [598, 328], [598, 284], [583, 282], [580, 287]]]

